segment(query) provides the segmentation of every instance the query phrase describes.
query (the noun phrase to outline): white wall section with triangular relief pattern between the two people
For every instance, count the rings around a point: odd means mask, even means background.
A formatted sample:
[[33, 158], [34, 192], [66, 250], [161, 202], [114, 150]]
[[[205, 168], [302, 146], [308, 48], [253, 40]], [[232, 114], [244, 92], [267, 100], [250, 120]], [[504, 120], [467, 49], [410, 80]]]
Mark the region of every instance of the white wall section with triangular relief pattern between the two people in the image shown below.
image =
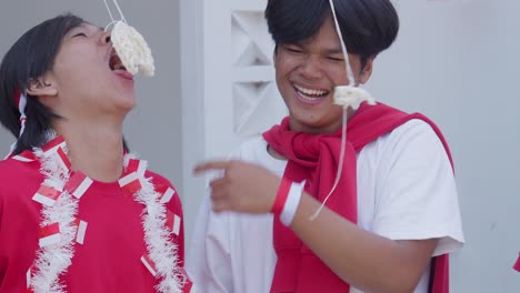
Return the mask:
[[[184, 228], [191, 235], [204, 176], [197, 163], [226, 159], [249, 135], [286, 115], [273, 83], [264, 0], [181, 0]], [[188, 242], [189, 243], [189, 242]]]

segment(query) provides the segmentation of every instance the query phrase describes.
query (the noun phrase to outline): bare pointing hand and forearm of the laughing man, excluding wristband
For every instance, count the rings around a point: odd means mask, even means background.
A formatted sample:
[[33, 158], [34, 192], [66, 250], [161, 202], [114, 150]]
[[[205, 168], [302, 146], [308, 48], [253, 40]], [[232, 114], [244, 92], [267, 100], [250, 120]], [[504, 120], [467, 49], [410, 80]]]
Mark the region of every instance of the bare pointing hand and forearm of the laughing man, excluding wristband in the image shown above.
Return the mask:
[[[281, 179], [240, 161], [210, 162], [196, 169], [224, 170], [211, 182], [213, 210], [268, 213]], [[314, 221], [319, 202], [307, 193], [291, 229], [342, 280], [368, 292], [412, 292], [438, 240], [392, 241], [367, 232], [329, 209]]]

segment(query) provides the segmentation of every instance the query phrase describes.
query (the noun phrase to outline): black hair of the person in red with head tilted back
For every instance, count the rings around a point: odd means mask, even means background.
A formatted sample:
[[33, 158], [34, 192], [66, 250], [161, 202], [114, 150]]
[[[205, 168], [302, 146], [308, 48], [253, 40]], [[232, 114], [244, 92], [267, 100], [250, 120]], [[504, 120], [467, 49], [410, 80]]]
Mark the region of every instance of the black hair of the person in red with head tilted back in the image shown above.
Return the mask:
[[[21, 124], [16, 92], [24, 92], [31, 79], [52, 70], [63, 37], [82, 23], [83, 19], [71, 13], [46, 20], [20, 37], [3, 57], [0, 64], [0, 122], [17, 139]], [[59, 118], [32, 95], [27, 95], [26, 115], [26, 130], [18, 139], [13, 154], [42, 146], [51, 121]]]

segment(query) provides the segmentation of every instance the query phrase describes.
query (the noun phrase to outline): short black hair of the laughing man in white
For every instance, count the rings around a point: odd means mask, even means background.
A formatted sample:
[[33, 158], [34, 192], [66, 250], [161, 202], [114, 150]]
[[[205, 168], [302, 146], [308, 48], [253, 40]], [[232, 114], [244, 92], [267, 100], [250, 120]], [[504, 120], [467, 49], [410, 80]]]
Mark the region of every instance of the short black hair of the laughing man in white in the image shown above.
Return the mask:
[[[334, 0], [336, 14], [349, 53], [376, 57], [397, 38], [399, 17], [389, 0]], [[266, 19], [276, 46], [318, 33], [332, 11], [328, 0], [268, 0]]]

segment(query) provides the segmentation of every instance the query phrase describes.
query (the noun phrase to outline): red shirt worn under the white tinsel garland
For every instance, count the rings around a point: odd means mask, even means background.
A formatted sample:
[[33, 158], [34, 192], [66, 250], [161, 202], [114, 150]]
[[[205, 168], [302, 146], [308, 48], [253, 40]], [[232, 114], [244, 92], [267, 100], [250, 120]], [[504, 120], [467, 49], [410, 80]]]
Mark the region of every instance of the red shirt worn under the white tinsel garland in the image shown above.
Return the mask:
[[[41, 204], [31, 198], [43, 176], [39, 162], [0, 161], [0, 293], [23, 292], [26, 273], [38, 250]], [[157, 186], [172, 188], [164, 178], [146, 173]], [[167, 208], [182, 218], [179, 196]], [[84, 244], [74, 245], [68, 271], [60, 276], [67, 292], [156, 292], [158, 281], [141, 263], [147, 254], [141, 214], [144, 206], [128, 196], [118, 182], [94, 181], [81, 198], [78, 219], [88, 223]], [[184, 231], [171, 234], [184, 262]]]

